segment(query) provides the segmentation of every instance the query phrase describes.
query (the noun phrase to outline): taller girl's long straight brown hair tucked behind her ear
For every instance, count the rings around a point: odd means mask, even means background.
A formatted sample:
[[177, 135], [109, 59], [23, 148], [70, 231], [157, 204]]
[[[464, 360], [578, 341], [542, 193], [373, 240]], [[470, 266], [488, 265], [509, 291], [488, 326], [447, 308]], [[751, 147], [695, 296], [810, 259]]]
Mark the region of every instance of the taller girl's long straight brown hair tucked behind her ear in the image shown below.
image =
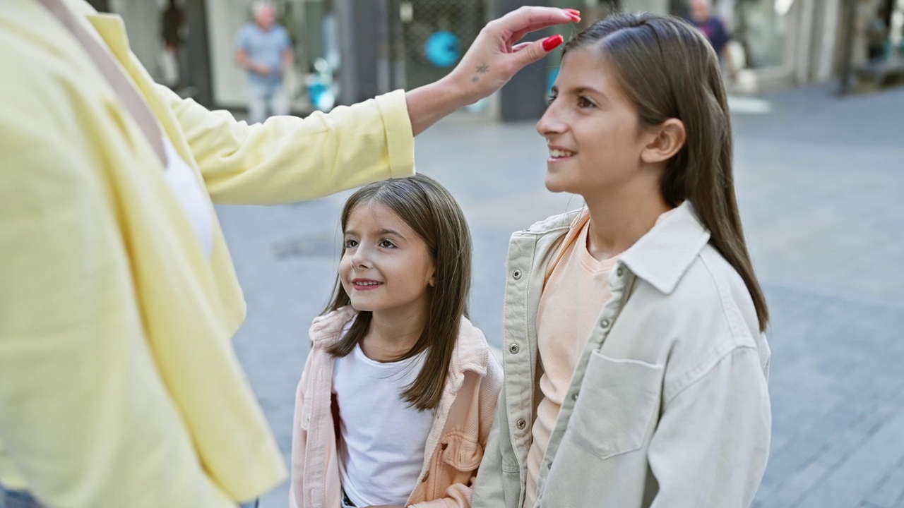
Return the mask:
[[665, 167], [662, 193], [678, 206], [690, 201], [710, 243], [753, 298], [760, 331], [768, 324], [766, 296], [754, 274], [732, 169], [731, 121], [719, 59], [703, 34], [683, 20], [660, 14], [615, 14], [579, 33], [562, 49], [594, 49], [615, 71], [645, 127], [669, 118], [684, 124], [687, 142]]

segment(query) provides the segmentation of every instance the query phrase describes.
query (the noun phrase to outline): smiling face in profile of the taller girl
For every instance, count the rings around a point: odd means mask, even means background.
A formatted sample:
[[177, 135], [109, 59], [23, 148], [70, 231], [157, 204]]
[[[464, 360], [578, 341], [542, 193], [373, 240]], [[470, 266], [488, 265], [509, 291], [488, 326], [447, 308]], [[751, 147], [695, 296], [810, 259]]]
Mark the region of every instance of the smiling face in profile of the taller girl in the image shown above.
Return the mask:
[[635, 105], [598, 52], [583, 47], [567, 52], [552, 96], [537, 123], [550, 149], [547, 189], [588, 198], [636, 183], [649, 140]]

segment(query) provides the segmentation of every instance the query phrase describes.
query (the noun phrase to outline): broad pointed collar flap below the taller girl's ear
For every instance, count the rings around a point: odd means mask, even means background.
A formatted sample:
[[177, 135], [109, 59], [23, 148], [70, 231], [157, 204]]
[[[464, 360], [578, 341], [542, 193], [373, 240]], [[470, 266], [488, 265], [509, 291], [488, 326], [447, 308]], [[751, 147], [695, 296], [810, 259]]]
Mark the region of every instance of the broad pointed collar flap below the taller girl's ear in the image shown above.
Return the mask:
[[638, 278], [670, 294], [710, 240], [690, 202], [683, 202], [619, 257]]

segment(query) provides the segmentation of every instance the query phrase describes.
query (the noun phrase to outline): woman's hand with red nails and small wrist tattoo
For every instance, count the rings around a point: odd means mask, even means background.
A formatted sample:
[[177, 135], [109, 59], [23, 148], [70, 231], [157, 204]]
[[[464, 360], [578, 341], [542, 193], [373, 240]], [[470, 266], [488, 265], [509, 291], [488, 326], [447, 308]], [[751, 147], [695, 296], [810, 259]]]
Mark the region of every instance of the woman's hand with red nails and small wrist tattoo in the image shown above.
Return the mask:
[[518, 43], [524, 35], [577, 21], [580, 14], [573, 9], [521, 7], [486, 24], [452, 72], [406, 94], [414, 136], [457, 108], [501, 89], [515, 73], [562, 42], [560, 35], [554, 35], [544, 41]]

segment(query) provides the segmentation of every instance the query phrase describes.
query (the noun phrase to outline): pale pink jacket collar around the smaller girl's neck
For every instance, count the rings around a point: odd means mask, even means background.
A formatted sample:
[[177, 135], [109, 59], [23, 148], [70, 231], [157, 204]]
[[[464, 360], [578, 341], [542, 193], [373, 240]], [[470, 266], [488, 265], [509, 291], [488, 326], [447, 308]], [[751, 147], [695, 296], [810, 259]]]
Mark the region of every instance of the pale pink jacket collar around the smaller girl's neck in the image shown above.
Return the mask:
[[[343, 329], [358, 312], [352, 306], [338, 308], [329, 314], [314, 318], [308, 334], [315, 347], [327, 348], [339, 342]], [[458, 326], [458, 342], [452, 353], [449, 364], [450, 381], [457, 380], [466, 371], [473, 371], [481, 376], [486, 374], [486, 363], [489, 361], [489, 348], [486, 346], [484, 334], [466, 318], [461, 318]], [[460, 382], [460, 381], [459, 381]]]

